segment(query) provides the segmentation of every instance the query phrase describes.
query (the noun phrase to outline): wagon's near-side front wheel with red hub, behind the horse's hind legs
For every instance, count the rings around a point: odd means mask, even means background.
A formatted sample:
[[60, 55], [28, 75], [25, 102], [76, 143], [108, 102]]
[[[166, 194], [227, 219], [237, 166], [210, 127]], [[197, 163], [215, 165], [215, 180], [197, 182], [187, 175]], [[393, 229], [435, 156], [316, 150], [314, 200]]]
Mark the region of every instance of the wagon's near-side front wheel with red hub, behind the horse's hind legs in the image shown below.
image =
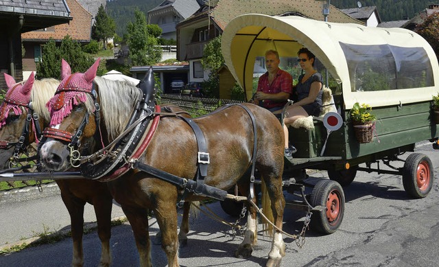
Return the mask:
[[311, 192], [310, 204], [322, 209], [314, 210], [311, 216], [311, 228], [320, 233], [337, 231], [344, 216], [344, 192], [342, 186], [331, 180], [321, 180]]

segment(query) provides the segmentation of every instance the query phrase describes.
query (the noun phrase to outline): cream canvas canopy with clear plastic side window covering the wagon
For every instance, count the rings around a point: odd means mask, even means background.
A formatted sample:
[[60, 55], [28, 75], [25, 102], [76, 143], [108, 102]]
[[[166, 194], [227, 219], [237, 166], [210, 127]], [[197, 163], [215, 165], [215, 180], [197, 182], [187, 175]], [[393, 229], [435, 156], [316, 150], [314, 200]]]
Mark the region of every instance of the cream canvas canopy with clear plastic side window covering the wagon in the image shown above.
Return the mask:
[[[373, 49], [357, 51], [368, 46]], [[294, 57], [301, 47], [312, 51], [331, 76], [338, 83], [342, 83], [345, 108], [352, 108], [355, 102], [388, 106], [427, 101], [438, 92], [439, 67], [436, 54], [424, 38], [410, 30], [329, 23], [300, 16], [244, 14], [230, 21], [222, 35], [222, 52], [226, 65], [248, 97], [252, 94], [252, 74], [257, 56], [264, 56], [266, 50], [275, 49], [281, 57]], [[361, 64], [374, 55], [392, 58], [393, 64], [390, 67], [394, 72], [391, 73], [394, 80], [388, 79], [388, 83], [394, 88], [363, 91], [361, 86], [355, 85], [356, 80], [359, 80], [357, 84], [364, 83], [359, 74], [366, 71], [364, 66], [360, 69], [355, 65], [355, 60]], [[410, 86], [405, 82], [405, 88], [401, 85], [405, 78], [402, 77], [405, 74], [401, 72], [401, 64], [412, 65], [407, 64], [407, 57], [412, 60], [410, 62], [418, 60], [424, 65], [431, 65], [427, 66], [429, 70], [416, 73], [417, 76], [427, 76], [429, 82], [418, 82], [422, 86]], [[385, 71], [384, 69], [383, 72]], [[416, 71], [418, 70], [415, 69], [414, 72]], [[396, 86], [398, 83], [399, 86]]]

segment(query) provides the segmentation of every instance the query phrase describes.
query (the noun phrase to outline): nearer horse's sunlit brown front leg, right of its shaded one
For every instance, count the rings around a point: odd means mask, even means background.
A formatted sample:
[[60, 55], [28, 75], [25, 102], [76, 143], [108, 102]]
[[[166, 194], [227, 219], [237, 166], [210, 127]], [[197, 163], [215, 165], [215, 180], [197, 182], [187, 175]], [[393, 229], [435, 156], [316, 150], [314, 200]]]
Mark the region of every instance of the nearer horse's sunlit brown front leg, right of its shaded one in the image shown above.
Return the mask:
[[169, 196], [162, 196], [161, 200], [157, 200], [154, 214], [162, 233], [162, 248], [167, 256], [167, 264], [169, 267], [178, 267], [178, 222], [175, 201], [169, 199]]

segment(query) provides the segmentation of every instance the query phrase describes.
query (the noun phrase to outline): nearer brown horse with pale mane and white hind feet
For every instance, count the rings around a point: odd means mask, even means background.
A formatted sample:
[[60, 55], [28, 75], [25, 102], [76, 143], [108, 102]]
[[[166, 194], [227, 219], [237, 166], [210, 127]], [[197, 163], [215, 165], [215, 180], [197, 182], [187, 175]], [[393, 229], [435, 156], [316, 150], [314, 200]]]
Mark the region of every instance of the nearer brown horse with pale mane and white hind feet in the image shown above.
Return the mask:
[[[67, 170], [69, 158], [72, 157], [69, 153], [72, 143], [62, 141], [59, 137], [76, 137], [80, 132], [82, 140], [101, 132], [104, 145], [107, 145], [123, 132], [127, 121], [130, 121], [132, 111], [143, 96], [134, 86], [124, 86], [121, 90], [120, 83], [95, 77], [98, 61], [85, 73], [73, 75], [67, 62], [62, 62], [63, 80], [55, 97], [49, 102], [52, 126], [50, 130], [56, 134], [47, 138], [40, 149], [41, 161], [51, 170]], [[102, 119], [99, 122], [89, 119], [79, 131], [80, 124], [86, 116], [93, 118], [97, 115], [93, 109], [93, 102], [99, 103], [99, 116], [102, 116]], [[220, 111], [193, 119], [204, 134], [210, 154], [204, 183], [224, 190], [239, 184], [241, 189], [244, 188], [242, 194], [246, 196], [248, 186], [243, 185], [248, 185], [250, 181], [248, 177], [242, 176], [254, 161], [267, 185], [274, 224], [281, 229], [285, 207], [282, 193], [283, 129], [276, 117], [264, 108], [253, 104], [244, 106], [250, 110], [257, 124], [252, 124], [249, 113], [242, 106], [226, 106]], [[253, 127], [256, 128], [256, 132]], [[255, 141], [257, 146], [253, 158]], [[160, 119], [139, 161], [168, 174], [193, 178], [198, 172], [197, 158], [198, 143], [192, 128], [178, 117], [167, 116]], [[126, 160], [130, 164], [128, 157]], [[129, 170], [120, 178], [108, 182], [108, 187], [115, 200], [121, 204], [132, 226], [141, 266], [152, 265], [147, 209], [152, 209], [156, 216], [162, 233], [162, 248], [167, 255], [169, 266], [178, 266], [175, 205], [183, 196], [187, 201], [199, 200], [201, 197], [192, 192], [185, 194], [180, 187], [137, 169]], [[264, 210], [269, 211], [270, 208]], [[250, 257], [252, 247], [257, 242], [256, 211], [251, 206], [249, 214], [248, 229], [235, 253], [237, 257]], [[285, 243], [281, 233], [276, 230], [267, 266], [280, 264], [283, 255]]]

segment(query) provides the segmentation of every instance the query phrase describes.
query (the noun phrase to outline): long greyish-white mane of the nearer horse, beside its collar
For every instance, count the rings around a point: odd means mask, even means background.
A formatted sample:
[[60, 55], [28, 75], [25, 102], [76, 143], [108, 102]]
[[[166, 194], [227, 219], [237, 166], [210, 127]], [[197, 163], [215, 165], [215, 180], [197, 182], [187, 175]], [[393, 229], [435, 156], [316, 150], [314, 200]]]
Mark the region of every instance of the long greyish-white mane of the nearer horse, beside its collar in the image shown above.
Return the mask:
[[[102, 117], [110, 140], [115, 139], [125, 128], [130, 119], [134, 106], [142, 98], [139, 88], [128, 82], [107, 80], [97, 76], [95, 78], [99, 100], [101, 102]], [[88, 111], [93, 111], [93, 101], [88, 98]]]

